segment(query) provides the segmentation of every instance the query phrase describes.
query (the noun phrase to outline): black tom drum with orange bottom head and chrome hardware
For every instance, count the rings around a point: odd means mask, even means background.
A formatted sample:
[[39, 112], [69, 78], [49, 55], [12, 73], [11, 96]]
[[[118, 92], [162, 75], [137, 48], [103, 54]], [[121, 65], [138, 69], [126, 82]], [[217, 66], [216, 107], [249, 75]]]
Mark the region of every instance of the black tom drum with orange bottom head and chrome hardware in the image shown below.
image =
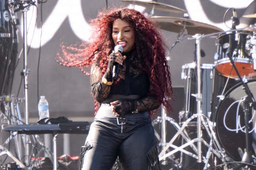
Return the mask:
[[252, 32], [236, 32], [222, 34], [216, 39], [217, 53], [214, 57], [216, 70], [225, 77], [238, 79], [229, 57], [232, 57], [241, 77], [256, 76], [250, 54], [250, 38]]

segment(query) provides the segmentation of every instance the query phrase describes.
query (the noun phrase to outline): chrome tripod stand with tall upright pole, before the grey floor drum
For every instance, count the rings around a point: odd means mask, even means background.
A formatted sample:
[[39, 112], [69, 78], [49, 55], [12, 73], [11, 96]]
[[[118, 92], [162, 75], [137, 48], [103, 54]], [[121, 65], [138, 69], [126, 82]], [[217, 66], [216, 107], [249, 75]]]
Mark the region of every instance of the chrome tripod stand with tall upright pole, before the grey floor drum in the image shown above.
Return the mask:
[[[212, 133], [208, 129], [208, 126], [212, 127], [212, 125], [207, 125], [206, 124], [206, 121], [204, 120], [204, 116], [202, 114], [202, 108], [201, 108], [201, 106], [202, 106], [202, 93], [201, 93], [201, 69], [200, 69], [200, 66], [201, 66], [200, 40], [202, 38], [202, 35], [201, 34], [195, 34], [193, 36], [193, 38], [196, 39], [197, 93], [196, 93], [195, 96], [196, 96], [196, 103], [197, 103], [197, 113], [193, 114], [189, 119], [187, 119], [187, 121], [185, 121], [183, 126], [178, 130], [178, 132], [175, 134], [175, 136], [173, 136], [171, 141], [166, 145], [166, 147], [163, 149], [163, 151], [159, 154], [159, 160], [161, 161], [164, 158], [169, 157], [173, 153], [175, 153], [177, 151], [181, 151], [181, 149], [183, 149], [183, 148], [185, 148], [189, 145], [192, 147], [193, 143], [196, 142], [197, 143], [196, 159], [197, 159], [197, 162], [198, 162], [198, 165], [199, 165], [199, 168], [200, 168], [200, 165], [202, 163], [202, 157], [203, 157], [203, 155], [202, 155], [202, 143], [209, 148], [208, 151], [209, 150], [212, 151], [220, 159], [223, 158], [224, 154], [221, 152], [221, 148], [217, 148], [217, 150], [216, 150], [212, 147], [212, 144], [213, 144], [212, 138], [211, 138], [211, 141], [210, 141], [210, 145], [202, 138], [202, 126], [206, 129], [206, 131], [208, 132], [208, 135], [211, 136]], [[190, 141], [187, 141], [186, 144], [183, 144], [182, 146], [174, 149], [173, 151], [171, 151], [169, 153], [166, 153], [167, 149], [169, 147], [171, 147], [172, 143], [177, 138], [177, 136], [179, 136], [179, 134], [182, 134], [183, 130], [185, 130], [185, 127], [187, 127], [188, 123], [194, 118], [197, 118], [197, 138], [195, 138], [193, 140], [190, 140]], [[208, 121], [208, 123], [209, 123], [209, 121]], [[219, 146], [219, 144], [218, 145], [214, 144], [214, 145], [217, 146], [217, 147]], [[204, 159], [204, 162], [207, 163], [208, 162], [207, 159], [209, 159], [209, 158], [208, 157], [207, 158], [203, 157], [203, 159]], [[207, 165], [205, 167], [207, 167]]]

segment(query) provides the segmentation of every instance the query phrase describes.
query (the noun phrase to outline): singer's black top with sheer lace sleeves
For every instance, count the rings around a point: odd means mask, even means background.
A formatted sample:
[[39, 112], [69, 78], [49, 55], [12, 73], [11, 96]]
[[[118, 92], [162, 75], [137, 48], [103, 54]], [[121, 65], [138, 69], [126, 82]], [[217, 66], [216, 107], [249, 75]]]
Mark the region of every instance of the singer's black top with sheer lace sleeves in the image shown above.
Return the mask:
[[148, 74], [144, 72], [139, 60], [136, 58], [135, 50], [123, 53], [127, 58], [123, 61], [123, 65], [119, 66], [118, 82], [112, 85], [102, 83], [102, 73], [97, 63], [92, 64], [90, 84], [92, 88], [92, 96], [100, 103], [106, 103], [110, 96], [113, 95], [138, 95], [136, 100], [136, 110], [139, 112], [154, 110], [160, 106], [154, 94], [150, 94], [150, 80]]

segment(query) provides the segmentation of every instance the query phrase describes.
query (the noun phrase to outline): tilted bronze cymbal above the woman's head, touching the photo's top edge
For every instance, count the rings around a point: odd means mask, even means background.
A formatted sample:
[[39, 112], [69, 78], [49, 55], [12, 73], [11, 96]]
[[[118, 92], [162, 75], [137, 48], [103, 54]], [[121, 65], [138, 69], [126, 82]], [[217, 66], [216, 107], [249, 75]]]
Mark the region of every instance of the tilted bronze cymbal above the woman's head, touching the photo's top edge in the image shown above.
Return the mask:
[[172, 13], [186, 13], [187, 11], [181, 8], [177, 8], [175, 6], [155, 2], [155, 1], [141, 1], [141, 0], [122, 0], [122, 2], [126, 2], [129, 4], [134, 4], [134, 5], [139, 5], [139, 6], [144, 6], [148, 8], [153, 8], [158, 9], [161, 11], [166, 11], [166, 12], [172, 12]]

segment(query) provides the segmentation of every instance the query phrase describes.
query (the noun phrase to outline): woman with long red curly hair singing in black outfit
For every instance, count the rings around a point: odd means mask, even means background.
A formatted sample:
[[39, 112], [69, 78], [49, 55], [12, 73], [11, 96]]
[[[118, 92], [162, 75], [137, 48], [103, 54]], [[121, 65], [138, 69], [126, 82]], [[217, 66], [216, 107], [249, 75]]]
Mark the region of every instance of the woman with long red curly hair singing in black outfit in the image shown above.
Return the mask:
[[[154, 23], [134, 9], [99, 13], [91, 21], [93, 38], [79, 48], [62, 45], [64, 66], [90, 66], [95, 119], [82, 147], [82, 170], [158, 170], [150, 115], [160, 104], [171, 109], [171, 75]], [[123, 47], [113, 51], [116, 45]], [[75, 54], [70, 53], [76, 51]], [[61, 57], [60, 57], [61, 56]], [[113, 79], [114, 64], [119, 64]]]

